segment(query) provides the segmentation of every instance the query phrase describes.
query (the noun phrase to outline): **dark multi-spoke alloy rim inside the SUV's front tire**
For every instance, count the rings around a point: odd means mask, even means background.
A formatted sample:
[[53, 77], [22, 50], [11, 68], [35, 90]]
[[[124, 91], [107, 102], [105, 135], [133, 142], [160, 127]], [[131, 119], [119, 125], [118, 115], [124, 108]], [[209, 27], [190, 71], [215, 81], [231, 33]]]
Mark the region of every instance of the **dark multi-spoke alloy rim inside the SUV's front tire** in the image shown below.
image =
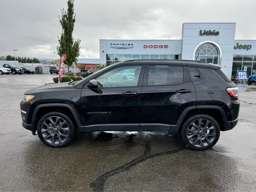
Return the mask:
[[68, 123], [59, 116], [46, 118], [40, 130], [43, 139], [50, 144], [61, 144], [65, 142], [70, 135]]

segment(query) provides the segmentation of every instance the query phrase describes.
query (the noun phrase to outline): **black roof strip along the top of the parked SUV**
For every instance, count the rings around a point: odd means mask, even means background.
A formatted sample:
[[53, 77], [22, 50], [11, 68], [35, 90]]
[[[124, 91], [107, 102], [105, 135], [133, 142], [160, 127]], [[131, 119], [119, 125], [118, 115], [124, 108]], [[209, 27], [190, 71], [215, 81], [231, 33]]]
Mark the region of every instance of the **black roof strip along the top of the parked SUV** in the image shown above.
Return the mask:
[[208, 68], [221, 68], [219, 65], [208, 64], [202, 61], [194, 60], [161, 60], [161, 59], [143, 59], [143, 60], [128, 60], [115, 64], [116, 66], [122, 64], [161, 64], [161, 65], [182, 65], [182, 66], [196, 66], [196, 67], [208, 67]]

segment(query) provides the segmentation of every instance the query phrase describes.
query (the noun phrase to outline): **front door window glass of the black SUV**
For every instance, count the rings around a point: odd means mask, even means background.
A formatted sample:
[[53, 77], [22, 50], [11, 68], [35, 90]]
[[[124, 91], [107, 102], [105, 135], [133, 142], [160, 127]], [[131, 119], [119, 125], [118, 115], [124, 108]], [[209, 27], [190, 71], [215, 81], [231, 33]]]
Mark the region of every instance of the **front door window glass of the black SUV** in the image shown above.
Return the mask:
[[96, 78], [99, 87], [137, 86], [141, 66], [123, 66]]

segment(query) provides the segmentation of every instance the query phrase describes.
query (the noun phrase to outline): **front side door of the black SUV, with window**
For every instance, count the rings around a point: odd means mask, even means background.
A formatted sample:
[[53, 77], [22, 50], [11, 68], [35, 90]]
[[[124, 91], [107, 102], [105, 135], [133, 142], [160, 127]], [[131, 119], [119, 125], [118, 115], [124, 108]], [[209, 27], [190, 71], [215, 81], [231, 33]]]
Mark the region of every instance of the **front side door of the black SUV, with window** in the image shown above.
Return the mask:
[[[118, 72], [130, 69], [136, 78], [114, 80]], [[85, 84], [81, 92], [81, 113], [85, 130], [139, 128], [139, 100], [144, 65], [118, 66], [96, 77], [98, 88]]]

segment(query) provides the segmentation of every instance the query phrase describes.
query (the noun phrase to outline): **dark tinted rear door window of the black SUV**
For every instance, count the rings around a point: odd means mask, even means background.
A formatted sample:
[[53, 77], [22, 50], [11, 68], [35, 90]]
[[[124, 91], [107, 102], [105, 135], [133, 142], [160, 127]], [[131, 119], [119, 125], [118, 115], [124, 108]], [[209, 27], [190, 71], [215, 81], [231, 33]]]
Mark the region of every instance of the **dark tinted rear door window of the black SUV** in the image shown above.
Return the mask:
[[148, 85], [176, 85], [183, 83], [183, 67], [148, 66]]

